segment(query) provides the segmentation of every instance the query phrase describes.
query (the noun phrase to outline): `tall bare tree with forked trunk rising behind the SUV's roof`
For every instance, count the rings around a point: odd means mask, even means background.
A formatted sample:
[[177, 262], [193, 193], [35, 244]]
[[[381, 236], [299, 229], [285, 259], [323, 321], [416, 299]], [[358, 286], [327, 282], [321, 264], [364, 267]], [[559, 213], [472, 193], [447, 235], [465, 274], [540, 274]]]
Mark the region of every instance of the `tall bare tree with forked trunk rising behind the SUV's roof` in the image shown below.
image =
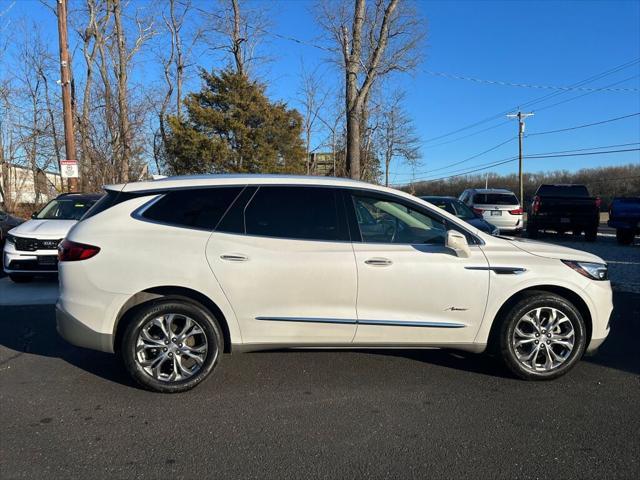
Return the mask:
[[[348, 173], [361, 178], [363, 121], [372, 86], [392, 72], [410, 71], [420, 60], [417, 49], [424, 22], [407, 0], [324, 0], [318, 21], [329, 34], [344, 71]], [[364, 116], [364, 118], [363, 118]]]

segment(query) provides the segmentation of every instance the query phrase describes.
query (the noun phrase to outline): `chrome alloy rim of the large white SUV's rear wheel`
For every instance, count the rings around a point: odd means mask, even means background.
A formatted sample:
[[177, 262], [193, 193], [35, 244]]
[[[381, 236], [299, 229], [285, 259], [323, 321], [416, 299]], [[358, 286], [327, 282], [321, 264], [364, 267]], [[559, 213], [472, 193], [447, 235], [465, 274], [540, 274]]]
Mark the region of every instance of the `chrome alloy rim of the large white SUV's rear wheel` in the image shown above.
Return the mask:
[[207, 357], [202, 327], [186, 315], [169, 313], [147, 322], [136, 341], [136, 362], [151, 377], [177, 382], [195, 375]]

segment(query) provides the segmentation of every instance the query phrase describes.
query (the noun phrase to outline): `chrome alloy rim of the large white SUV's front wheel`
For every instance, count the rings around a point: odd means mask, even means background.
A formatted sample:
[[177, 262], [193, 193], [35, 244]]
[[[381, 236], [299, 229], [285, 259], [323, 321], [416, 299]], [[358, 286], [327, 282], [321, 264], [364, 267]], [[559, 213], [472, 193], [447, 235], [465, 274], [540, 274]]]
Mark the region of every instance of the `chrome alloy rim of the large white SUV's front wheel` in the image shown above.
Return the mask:
[[518, 361], [532, 372], [550, 372], [571, 356], [575, 331], [560, 310], [540, 307], [524, 314], [516, 323], [511, 345]]

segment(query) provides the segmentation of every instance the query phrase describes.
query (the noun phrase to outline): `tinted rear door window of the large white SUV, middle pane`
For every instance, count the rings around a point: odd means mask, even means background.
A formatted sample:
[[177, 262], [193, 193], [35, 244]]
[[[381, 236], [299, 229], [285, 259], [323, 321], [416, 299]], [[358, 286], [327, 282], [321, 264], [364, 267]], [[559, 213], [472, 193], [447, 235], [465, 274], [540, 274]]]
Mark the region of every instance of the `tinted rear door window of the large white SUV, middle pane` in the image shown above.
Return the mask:
[[305, 240], [348, 240], [334, 189], [260, 187], [245, 209], [248, 235]]

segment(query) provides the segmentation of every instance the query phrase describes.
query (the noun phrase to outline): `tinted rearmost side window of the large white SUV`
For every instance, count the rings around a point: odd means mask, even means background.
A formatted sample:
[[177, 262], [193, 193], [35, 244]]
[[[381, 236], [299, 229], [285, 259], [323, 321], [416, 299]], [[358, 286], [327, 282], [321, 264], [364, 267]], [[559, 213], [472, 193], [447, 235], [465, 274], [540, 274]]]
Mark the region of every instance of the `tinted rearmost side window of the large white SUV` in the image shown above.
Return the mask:
[[169, 191], [142, 216], [169, 225], [213, 230], [241, 190], [218, 187]]

